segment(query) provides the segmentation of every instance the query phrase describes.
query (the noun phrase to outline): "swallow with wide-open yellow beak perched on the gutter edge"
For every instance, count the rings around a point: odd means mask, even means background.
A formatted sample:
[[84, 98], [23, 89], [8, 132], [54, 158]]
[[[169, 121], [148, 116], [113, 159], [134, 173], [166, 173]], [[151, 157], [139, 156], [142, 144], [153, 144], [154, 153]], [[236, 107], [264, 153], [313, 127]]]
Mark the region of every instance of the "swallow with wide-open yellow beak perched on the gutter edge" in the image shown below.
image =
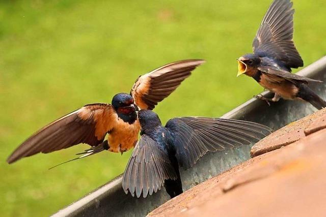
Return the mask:
[[269, 99], [255, 96], [268, 103], [286, 100], [303, 100], [317, 109], [326, 102], [309, 87], [318, 80], [291, 73], [291, 68], [304, 65], [293, 43], [293, 14], [290, 0], [275, 0], [267, 10], [253, 42], [253, 53], [238, 58], [238, 74], [253, 77], [261, 86], [274, 92]]

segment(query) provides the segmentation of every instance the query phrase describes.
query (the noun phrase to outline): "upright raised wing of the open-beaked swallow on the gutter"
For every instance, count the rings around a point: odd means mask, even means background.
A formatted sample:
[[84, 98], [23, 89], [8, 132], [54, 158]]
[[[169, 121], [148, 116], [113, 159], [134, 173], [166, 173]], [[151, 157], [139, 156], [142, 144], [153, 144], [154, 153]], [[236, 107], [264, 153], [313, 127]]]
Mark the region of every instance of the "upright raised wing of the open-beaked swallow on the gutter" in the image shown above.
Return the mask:
[[254, 53], [274, 57], [287, 68], [304, 65], [293, 43], [293, 13], [290, 0], [274, 0], [254, 39]]

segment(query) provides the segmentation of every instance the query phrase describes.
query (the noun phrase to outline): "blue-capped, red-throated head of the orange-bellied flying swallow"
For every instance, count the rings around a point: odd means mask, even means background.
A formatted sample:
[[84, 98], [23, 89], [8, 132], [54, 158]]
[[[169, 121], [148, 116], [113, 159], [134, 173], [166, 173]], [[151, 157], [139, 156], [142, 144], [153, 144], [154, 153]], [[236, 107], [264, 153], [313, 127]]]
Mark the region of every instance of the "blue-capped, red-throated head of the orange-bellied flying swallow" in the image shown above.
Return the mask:
[[118, 113], [131, 114], [138, 111], [138, 107], [134, 105], [133, 98], [129, 94], [117, 94], [112, 99], [112, 105]]

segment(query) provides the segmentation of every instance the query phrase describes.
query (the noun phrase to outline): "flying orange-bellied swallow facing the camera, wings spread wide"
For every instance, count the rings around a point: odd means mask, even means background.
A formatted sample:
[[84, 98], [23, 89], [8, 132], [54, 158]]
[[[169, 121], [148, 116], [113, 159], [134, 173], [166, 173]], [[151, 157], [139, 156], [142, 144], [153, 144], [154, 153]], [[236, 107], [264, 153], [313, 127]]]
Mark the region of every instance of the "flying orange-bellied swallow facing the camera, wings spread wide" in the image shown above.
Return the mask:
[[[140, 131], [138, 108], [153, 109], [204, 62], [201, 59], [176, 61], [140, 76], [130, 94], [115, 95], [112, 104], [85, 105], [41, 128], [24, 141], [7, 162], [13, 163], [36, 153], [49, 153], [79, 143], [93, 147], [79, 153], [82, 156], [76, 159], [103, 150], [121, 153], [129, 150], [137, 143]], [[104, 141], [106, 134], [107, 140]]]

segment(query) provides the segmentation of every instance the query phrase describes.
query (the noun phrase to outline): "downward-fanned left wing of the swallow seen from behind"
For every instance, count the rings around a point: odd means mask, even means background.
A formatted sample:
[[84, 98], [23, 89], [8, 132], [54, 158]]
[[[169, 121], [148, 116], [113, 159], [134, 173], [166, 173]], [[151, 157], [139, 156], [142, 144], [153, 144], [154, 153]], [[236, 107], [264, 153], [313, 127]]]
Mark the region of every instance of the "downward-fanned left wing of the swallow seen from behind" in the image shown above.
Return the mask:
[[143, 135], [132, 151], [123, 174], [122, 188], [138, 198], [160, 190], [166, 179], [177, 175], [169, 160], [167, 150], [147, 135]]

